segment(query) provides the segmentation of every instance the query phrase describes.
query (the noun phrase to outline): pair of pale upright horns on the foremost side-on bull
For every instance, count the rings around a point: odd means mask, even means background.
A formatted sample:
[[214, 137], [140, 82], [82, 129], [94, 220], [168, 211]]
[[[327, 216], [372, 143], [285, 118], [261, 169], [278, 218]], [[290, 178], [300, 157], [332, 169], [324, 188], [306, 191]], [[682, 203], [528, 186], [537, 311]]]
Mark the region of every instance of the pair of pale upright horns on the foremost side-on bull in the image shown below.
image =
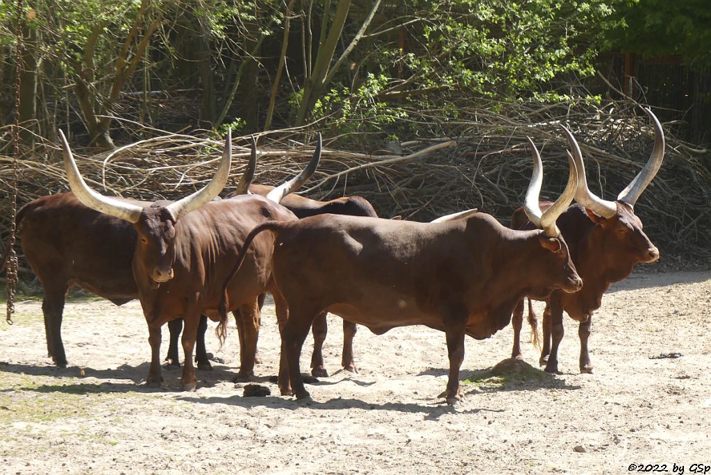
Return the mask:
[[540, 188], [543, 184], [543, 164], [540, 159], [540, 153], [533, 140], [528, 138], [528, 143], [533, 150], [533, 175], [531, 176], [530, 184], [528, 185], [528, 190], [526, 191], [525, 203], [523, 205], [523, 210], [525, 211], [528, 219], [536, 225], [538, 228], [542, 228], [545, 235], [550, 237], [557, 237], [560, 235], [560, 230], [555, 221], [558, 216], [563, 213], [570, 203], [572, 203], [575, 197], [575, 189], [577, 188], [577, 169], [575, 168], [575, 163], [572, 159], [568, 159], [570, 164], [570, 175], [568, 176], [568, 183], [565, 186], [565, 190], [558, 197], [558, 199], [553, 203], [550, 208], [542, 213], [540, 210], [540, 205], [538, 203], [540, 196]]

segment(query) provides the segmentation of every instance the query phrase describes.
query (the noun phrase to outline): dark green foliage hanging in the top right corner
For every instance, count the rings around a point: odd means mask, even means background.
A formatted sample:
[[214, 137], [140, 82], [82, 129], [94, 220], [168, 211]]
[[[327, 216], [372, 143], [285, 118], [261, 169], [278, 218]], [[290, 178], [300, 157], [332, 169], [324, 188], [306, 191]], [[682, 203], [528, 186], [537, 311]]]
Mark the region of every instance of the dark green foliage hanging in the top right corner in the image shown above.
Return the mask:
[[621, 0], [607, 47], [646, 56], [679, 55], [691, 66], [711, 64], [707, 0]]

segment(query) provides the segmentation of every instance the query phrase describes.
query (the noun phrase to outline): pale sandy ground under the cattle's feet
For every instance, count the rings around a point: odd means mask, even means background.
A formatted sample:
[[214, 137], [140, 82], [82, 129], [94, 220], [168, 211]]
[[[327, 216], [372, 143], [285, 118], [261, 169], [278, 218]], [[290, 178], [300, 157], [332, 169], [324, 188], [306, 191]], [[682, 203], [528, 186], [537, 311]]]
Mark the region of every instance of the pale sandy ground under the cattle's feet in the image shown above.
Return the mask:
[[[279, 338], [263, 316], [258, 383], [272, 396], [242, 397], [225, 364], [198, 371], [198, 390], [143, 385], [150, 356], [137, 302], [69, 303], [63, 337], [70, 368], [46, 357], [38, 301], [2, 325], [2, 473], [626, 473], [636, 466], [711, 465], [711, 272], [634, 274], [606, 294], [590, 338], [593, 375], [579, 375], [577, 326], [566, 319], [560, 375], [535, 369], [492, 375], [510, 355], [510, 326], [466, 342], [459, 409], [437, 395], [447, 380], [444, 333], [412, 326], [355, 338], [359, 373], [339, 371], [341, 320], [329, 316], [326, 365], [313, 402], [278, 396]], [[537, 307], [539, 310], [540, 306]], [[164, 331], [164, 350], [167, 331]], [[306, 370], [311, 340], [304, 345]], [[652, 359], [660, 353], [680, 358]], [[165, 351], [163, 351], [165, 353]], [[577, 449], [576, 449], [577, 447]], [[643, 468], [644, 469], [644, 468]]]

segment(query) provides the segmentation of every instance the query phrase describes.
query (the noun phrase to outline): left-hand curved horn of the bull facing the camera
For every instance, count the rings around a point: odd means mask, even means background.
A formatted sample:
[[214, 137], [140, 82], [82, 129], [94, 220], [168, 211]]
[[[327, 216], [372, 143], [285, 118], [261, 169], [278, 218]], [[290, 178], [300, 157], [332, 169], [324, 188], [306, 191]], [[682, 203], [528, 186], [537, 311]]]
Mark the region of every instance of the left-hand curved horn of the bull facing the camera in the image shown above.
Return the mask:
[[59, 129], [59, 137], [62, 139], [64, 149], [64, 169], [67, 174], [69, 187], [72, 189], [74, 196], [82, 205], [100, 211], [107, 215], [112, 215], [116, 218], [129, 221], [129, 223], [137, 223], [143, 208], [132, 203], [119, 201], [115, 198], [103, 196], [87, 186], [84, 178], [79, 174], [77, 164], [74, 161], [72, 150], [69, 148], [67, 138], [64, 137], [64, 132]]

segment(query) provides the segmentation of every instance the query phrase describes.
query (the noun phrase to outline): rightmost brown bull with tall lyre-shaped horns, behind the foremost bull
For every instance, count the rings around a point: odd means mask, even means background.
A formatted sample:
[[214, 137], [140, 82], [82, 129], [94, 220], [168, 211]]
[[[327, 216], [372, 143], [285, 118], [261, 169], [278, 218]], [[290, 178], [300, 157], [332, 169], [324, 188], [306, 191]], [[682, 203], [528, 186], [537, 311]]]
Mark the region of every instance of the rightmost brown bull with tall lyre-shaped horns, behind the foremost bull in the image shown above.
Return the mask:
[[[557, 354], [563, 338], [563, 311], [579, 322], [580, 372], [592, 373], [587, 343], [592, 314], [599, 309], [602, 295], [611, 282], [629, 276], [638, 262], [655, 262], [659, 258], [658, 249], [643, 232], [642, 222], [634, 213], [637, 199], [656, 175], [664, 158], [664, 132], [661, 124], [651, 110], [644, 111], [650, 117], [654, 129], [654, 148], [647, 164], [629, 186], [619, 193], [617, 201], [603, 200], [589, 191], [579, 146], [570, 131], [565, 129], [578, 169], [575, 194], [578, 204], [562, 213], [557, 225], [570, 246], [570, 255], [584, 286], [572, 294], [553, 292], [546, 299], [540, 363], [546, 365], [545, 370], [549, 373], [558, 370]], [[511, 219], [511, 227], [525, 228], [527, 221], [523, 211], [516, 210]], [[535, 324], [530, 300], [528, 307], [529, 321]], [[519, 339], [522, 323], [523, 300], [513, 313], [513, 358], [521, 358]]]

